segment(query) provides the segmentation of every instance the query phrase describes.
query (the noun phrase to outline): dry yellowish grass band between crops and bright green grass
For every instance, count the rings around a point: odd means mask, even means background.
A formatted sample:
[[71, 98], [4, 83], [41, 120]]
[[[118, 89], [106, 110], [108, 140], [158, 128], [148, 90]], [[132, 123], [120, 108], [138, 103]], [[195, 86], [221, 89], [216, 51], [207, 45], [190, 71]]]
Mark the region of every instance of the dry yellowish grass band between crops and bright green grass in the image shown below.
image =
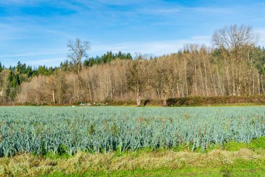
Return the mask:
[[[209, 153], [162, 151], [128, 153], [117, 157], [115, 153], [77, 153], [68, 159], [50, 159], [29, 154], [0, 158], [0, 176], [38, 176], [61, 171], [82, 174], [86, 171], [127, 171], [133, 169], [183, 169], [186, 167], [221, 167], [236, 160], [265, 162], [265, 151], [241, 149], [236, 152], [212, 150]], [[265, 164], [264, 164], [265, 165]]]

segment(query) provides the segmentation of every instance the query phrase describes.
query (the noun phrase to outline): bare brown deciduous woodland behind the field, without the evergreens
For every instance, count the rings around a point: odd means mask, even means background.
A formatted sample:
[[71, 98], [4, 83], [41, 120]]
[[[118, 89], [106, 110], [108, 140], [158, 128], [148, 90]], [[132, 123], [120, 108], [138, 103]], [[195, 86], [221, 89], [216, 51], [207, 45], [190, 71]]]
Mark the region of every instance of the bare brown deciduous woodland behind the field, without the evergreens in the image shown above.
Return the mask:
[[[233, 74], [236, 72], [234, 69], [239, 68], [227, 64], [232, 59], [215, 57], [213, 51], [204, 46], [195, 48], [190, 45], [189, 51], [148, 62], [116, 60], [109, 64], [95, 65], [83, 68], [79, 78], [75, 73], [63, 71], [52, 76], [38, 76], [31, 82], [22, 83], [17, 101], [70, 104], [135, 100], [139, 96], [142, 99], [165, 101], [169, 97], [264, 94], [265, 77], [255, 67], [246, 70], [248, 60], [241, 62], [241, 80], [236, 83]], [[131, 71], [130, 67], [135, 67], [135, 71]], [[236, 90], [239, 87], [240, 90]]]

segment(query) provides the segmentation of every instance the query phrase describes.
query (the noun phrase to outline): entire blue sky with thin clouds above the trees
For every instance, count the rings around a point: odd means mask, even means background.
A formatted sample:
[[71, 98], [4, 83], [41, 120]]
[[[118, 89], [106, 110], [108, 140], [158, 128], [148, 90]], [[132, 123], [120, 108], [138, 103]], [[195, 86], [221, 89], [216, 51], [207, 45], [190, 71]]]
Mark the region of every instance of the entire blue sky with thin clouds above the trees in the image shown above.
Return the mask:
[[265, 1], [3, 0], [0, 62], [56, 66], [67, 41], [90, 41], [89, 56], [112, 50], [163, 55], [186, 43], [211, 45], [215, 29], [249, 24], [265, 45]]

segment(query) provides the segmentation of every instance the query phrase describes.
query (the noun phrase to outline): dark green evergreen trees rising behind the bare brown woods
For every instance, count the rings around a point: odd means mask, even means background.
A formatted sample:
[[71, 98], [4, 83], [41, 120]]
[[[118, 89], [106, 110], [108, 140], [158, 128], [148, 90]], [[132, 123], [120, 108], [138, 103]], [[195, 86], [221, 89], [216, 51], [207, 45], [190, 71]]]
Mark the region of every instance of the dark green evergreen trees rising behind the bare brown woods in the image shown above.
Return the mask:
[[[111, 62], [114, 59], [132, 59], [130, 53], [113, 53], [107, 52], [102, 56], [89, 57], [85, 59], [82, 65], [84, 67], [91, 67], [95, 64], [105, 64]], [[23, 82], [30, 82], [32, 78], [39, 76], [51, 76], [59, 71], [70, 72], [73, 62], [66, 60], [61, 62], [59, 66], [47, 67], [45, 65], [32, 67], [17, 62], [17, 66], [6, 67], [0, 62], [0, 103], [8, 103], [17, 101], [17, 94], [20, 93], [21, 85]]]

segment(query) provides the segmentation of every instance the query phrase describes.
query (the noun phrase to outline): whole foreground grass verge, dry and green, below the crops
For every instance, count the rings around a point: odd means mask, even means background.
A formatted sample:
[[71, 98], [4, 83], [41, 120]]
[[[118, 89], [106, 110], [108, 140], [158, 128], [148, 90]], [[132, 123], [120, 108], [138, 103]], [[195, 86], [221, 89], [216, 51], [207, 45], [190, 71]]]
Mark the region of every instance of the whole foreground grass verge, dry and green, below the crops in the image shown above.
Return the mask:
[[0, 176], [264, 176], [265, 150], [241, 148], [209, 153], [158, 150], [140, 153], [0, 158]]

